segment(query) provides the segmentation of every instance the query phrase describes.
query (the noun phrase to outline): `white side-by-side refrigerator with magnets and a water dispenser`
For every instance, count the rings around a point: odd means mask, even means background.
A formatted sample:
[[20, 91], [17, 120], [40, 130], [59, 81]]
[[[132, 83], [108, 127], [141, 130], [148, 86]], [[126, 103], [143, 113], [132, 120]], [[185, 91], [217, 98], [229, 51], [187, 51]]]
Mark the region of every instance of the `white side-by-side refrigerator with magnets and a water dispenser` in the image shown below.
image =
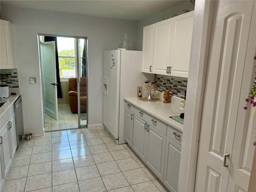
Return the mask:
[[154, 74], [142, 73], [142, 52], [105, 50], [103, 52], [103, 124], [117, 144], [124, 140], [124, 98], [137, 97], [138, 86], [154, 80]]

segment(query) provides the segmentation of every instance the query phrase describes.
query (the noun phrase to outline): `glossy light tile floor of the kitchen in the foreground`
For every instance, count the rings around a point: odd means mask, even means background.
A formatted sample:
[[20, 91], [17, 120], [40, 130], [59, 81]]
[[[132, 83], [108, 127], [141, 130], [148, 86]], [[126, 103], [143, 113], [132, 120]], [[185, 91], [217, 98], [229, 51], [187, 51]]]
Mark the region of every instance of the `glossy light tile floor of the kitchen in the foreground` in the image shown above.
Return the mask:
[[128, 145], [104, 129], [63, 130], [20, 141], [1, 192], [168, 191]]

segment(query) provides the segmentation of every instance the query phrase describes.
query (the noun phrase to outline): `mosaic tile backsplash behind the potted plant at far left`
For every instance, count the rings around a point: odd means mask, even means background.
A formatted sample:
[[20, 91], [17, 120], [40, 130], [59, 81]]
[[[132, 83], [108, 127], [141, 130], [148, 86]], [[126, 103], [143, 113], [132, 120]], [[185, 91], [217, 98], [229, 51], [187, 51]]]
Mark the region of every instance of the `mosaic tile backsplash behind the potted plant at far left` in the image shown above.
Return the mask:
[[18, 69], [1, 69], [1, 74], [8, 75], [8, 80], [3, 80], [1, 84], [7, 84], [9, 88], [18, 88]]

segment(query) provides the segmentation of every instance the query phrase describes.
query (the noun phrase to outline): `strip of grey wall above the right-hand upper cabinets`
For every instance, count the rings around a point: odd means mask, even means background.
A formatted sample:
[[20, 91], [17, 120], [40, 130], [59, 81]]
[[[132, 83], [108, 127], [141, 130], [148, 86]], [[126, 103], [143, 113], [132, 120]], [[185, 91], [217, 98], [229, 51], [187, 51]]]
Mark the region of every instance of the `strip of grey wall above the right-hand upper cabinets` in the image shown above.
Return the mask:
[[182, 9], [194, 10], [194, 5], [190, 1], [182, 3], [176, 7], [167, 9], [151, 17], [140, 20], [137, 24], [137, 50], [142, 50], [143, 27], [162, 21], [164, 17], [171, 18], [172, 13], [181, 14]]

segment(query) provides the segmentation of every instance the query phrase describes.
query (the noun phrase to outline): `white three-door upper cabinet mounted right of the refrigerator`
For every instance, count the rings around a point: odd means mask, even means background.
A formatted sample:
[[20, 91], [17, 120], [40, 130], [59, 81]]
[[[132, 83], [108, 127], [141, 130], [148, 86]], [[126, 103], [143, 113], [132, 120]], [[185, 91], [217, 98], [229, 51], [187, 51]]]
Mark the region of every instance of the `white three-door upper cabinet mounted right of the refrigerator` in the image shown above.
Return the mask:
[[142, 72], [188, 77], [194, 11], [143, 28]]

